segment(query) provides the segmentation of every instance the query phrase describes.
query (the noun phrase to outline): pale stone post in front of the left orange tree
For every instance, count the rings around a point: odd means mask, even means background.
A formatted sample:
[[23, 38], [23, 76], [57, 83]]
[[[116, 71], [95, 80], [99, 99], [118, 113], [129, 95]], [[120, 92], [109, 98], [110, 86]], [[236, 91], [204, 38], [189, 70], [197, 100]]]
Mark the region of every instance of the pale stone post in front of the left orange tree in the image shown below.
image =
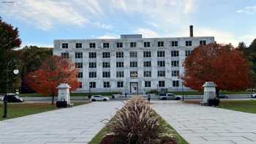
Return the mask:
[[61, 101], [67, 101], [67, 105], [70, 105], [70, 98], [69, 98], [69, 88], [70, 86], [67, 83], [61, 83], [59, 86], [58, 91], [58, 100]]

